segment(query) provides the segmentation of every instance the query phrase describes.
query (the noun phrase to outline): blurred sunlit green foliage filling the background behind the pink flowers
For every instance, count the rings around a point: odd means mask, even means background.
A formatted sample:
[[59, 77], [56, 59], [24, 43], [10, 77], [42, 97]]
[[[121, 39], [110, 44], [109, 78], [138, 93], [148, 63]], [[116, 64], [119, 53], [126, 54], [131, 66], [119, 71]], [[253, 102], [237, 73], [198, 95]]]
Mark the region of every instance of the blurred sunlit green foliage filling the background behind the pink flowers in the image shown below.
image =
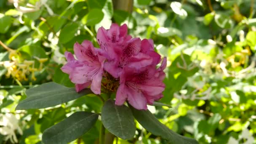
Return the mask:
[[[47, 109], [15, 107], [26, 88], [49, 81], [73, 87], [60, 70], [64, 51], [85, 39], [99, 47], [96, 31], [112, 21], [128, 24], [134, 37], [153, 39], [155, 50], [168, 57], [160, 101], [172, 108], [149, 108], [162, 123], [200, 144], [256, 143], [255, 8], [254, 0], [134, 0], [128, 13], [114, 9], [112, 0], [0, 0], [0, 40], [8, 46], [0, 46], [0, 143], [13, 143], [1, 133], [4, 115], [19, 120], [22, 135], [8, 127], [19, 144], [36, 144], [46, 128], [73, 112], [101, 111], [92, 94]], [[133, 140], [114, 142], [167, 143], [136, 127]], [[97, 122], [72, 143], [98, 138]]]

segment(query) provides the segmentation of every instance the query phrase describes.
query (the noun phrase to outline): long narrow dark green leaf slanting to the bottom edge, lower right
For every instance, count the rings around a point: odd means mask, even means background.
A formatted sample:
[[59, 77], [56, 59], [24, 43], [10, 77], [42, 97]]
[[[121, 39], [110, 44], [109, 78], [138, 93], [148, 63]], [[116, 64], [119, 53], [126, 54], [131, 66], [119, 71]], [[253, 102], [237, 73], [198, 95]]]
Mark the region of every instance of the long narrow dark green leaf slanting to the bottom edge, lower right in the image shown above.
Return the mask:
[[149, 110], [138, 110], [131, 107], [135, 119], [150, 133], [167, 139], [171, 144], [198, 144], [195, 139], [181, 136], [160, 123]]

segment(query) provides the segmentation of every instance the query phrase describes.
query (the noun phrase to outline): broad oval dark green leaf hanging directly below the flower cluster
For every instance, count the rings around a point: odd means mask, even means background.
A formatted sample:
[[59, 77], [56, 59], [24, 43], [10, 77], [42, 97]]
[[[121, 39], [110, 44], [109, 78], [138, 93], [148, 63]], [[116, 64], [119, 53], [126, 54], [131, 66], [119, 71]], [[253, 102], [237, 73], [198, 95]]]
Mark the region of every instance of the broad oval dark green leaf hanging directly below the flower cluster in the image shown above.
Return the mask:
[[135, 123], [131, 110], [125, 106], [115, 105], [115, 101], [109, 99], [101, 110], [101, 120], [110, 133], [121, 139], [132, 139], [135, 135]]

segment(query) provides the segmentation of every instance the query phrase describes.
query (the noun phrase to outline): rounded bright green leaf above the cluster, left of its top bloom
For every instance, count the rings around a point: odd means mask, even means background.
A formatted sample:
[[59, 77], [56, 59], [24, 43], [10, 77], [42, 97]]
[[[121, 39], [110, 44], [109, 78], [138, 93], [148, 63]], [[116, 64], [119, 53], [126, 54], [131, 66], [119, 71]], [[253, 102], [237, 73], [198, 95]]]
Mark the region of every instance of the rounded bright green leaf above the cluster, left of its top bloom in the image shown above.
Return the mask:
[[82, 19], [82, 23], [88, 26], [98, 24], [104, 17], [104, 13], [100, 9], [92, 9]]

